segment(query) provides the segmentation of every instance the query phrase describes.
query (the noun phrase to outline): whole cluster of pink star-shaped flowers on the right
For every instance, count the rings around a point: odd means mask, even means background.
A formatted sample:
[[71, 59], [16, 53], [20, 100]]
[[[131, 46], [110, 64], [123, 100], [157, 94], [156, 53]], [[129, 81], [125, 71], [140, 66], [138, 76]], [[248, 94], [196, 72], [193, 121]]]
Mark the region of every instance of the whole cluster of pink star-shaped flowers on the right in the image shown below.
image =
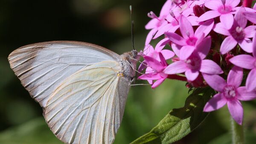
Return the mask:
[[[159, 86], [165, 79], [187, 81], [189, 88], [210, 86], [218, 93], [205, 112], [227, 104], [242, 124], [240, 101], [256, 99], [256, 5], [240, 0], [167, 0], [151, 20], [139, 76]], [[151, 40], [161, 40], [155, 48]], [[163, 49], [169, 45], [171, 50]], [[168, 64], [166, 60], [172, 59]], [[227, 80], [225, 80], [227, 79]], [[241, 86], [244, 85], [244, 86]]]

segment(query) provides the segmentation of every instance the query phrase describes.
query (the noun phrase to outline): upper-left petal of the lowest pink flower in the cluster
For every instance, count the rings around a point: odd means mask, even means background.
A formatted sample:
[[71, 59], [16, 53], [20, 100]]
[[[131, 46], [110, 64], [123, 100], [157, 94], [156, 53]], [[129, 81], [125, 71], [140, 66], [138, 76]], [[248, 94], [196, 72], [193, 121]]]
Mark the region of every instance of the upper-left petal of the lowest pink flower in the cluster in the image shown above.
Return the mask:
[[218, 92], [222, 92], [224, 87], [227, 85], [227, 82], [219, 75], [209, 75], [206, 73], [202, 73], [202, 75], [208, 85]]

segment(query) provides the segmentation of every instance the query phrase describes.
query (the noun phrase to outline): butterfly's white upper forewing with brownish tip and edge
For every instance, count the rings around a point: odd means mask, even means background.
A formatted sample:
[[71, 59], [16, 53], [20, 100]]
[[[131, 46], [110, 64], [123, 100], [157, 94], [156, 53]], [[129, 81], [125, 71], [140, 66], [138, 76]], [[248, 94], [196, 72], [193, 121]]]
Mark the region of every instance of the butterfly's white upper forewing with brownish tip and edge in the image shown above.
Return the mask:
[[11, 68], [29, 94], [42, 107], [67, 77], [102, 61], [120, 61], [121, 57], [86, 42], [53, 41], [26, 45], [9, 57]]

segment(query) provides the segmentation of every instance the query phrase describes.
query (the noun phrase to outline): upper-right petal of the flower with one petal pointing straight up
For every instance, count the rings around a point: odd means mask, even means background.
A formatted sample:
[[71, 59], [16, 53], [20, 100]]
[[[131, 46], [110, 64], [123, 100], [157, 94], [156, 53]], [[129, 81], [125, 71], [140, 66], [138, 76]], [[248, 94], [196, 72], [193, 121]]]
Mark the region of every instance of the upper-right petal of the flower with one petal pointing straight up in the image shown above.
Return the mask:
[[199, 37], [202, 33], [204, 33], [204, 37], [206, 37], [210, 31], [212, 30], [212, 27], [214, 25], [214, 20], [207, 20], [203, 24], [201, 24], [195, 31], [195, 37]]

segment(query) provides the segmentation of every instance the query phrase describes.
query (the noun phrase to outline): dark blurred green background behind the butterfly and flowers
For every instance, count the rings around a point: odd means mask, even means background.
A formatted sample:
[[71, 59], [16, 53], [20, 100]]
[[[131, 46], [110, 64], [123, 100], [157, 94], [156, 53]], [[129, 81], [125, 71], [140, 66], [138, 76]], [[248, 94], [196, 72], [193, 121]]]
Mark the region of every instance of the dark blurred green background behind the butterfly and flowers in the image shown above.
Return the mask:
[[[42, 108], [9, 68], [7, 56], [20, 46], [52, 40], [91, 42], [117, 54], [131, 51], [129, 5], [134, 8], [135, 47], [143, 49], [150, 20], [165, 0], [0, 0], [0, 144], [61, 144], [49, 130]], [[156, 43], [156, 41], [154, 42]], [[142, 83], [137, 81], [137, 83]], [[115, 144], [147, 133], [172, 109], [183, 107], [184, 82], [167, 79], [156, 89], [132, 87]], [[246, 143], [256, 141], [256, 101], [243, 102]], [[177, 144], [230, 144], [227, 107]]]

